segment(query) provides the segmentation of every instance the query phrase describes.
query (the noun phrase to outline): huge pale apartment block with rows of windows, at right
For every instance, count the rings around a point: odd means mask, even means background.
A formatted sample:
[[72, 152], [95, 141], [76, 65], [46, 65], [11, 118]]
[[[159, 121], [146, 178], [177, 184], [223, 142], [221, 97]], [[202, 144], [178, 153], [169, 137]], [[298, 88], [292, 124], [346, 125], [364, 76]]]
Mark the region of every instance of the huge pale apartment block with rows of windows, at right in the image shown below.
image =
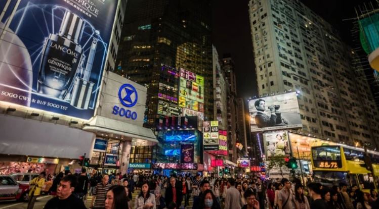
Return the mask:
[[377, 146], [378, 111], [335, 29], [297, 0], [251, 0], [249, 15], [259, 95], [297, 91], [303, 132]]

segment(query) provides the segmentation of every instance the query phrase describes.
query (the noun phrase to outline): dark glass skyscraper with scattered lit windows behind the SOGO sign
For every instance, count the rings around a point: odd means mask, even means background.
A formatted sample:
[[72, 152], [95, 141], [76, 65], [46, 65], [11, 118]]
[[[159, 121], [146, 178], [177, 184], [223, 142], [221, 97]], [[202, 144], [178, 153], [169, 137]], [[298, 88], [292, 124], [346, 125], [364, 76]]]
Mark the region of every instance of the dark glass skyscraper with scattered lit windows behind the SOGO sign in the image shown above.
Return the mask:
[[205, 119], [213, 119], [209, 1], [129, 0], [125, 14], [115, 72], [148, 86], [145, 125], [154, 126], [160, 88], [166, 95], [179, 88], [162, 74], [162, 65], [204, 77], [202, 108]]

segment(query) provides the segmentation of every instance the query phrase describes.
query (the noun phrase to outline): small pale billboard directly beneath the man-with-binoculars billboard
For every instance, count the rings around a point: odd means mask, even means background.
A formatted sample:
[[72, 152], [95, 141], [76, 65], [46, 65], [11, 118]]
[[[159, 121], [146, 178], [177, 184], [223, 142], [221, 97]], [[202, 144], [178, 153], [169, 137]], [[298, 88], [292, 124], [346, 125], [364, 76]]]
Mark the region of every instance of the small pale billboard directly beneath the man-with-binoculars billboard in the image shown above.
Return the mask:
[[263, 134], [266, 157], [290, 154], [287, 131], [276, 131]]

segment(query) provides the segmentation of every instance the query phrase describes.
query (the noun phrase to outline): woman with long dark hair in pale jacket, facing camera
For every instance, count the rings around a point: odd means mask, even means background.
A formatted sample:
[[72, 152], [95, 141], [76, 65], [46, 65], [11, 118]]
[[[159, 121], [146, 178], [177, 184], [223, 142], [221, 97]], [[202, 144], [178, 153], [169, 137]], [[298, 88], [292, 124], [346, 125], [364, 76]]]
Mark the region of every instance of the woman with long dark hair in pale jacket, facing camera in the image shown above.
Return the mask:
[[141, 192], [134, 200], [134, 209], [156, 209], [155, 195], [149, 192], [149, 183], [143, 182]]

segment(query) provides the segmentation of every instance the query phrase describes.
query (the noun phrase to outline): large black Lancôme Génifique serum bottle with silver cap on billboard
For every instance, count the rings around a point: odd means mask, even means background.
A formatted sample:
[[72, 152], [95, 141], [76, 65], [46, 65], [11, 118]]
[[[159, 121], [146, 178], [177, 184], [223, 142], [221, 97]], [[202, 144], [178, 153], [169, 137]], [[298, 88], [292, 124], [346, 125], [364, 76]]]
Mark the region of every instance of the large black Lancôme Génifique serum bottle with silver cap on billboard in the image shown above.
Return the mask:
[[38, 74], [39, 93], [63, 99], [82, 59], [83, 20], [66, 10], [58, 34], [46, 39]]

